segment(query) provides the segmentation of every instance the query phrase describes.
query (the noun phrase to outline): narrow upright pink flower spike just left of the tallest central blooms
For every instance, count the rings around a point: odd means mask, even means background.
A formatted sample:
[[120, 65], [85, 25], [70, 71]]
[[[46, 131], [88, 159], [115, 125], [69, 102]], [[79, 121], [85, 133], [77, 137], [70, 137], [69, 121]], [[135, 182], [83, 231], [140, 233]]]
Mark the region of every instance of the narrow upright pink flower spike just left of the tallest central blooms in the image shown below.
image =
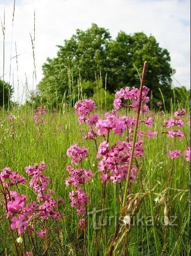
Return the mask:
[[[67, 150], [67, 155], [71, 156], [71, 163], [75, 166], [81, 163], [81, 168], [72, 168], [67, 166], [66, 170], [69, 172], [69, 178], [66, 180], [66, 185], [72, 184], [76, 190], [70, 192], [71, 207], [76, 207], [77, 215], [80, 216], [79, 228], [83, 229], [86, 226], [86, 219], [82, 219], [82, 215], [86, 214], [86, 205], [88, 196], [85, 193], [85, 184], [93, 176], [92, 171], [83, 168], [83, 159], [88, 156], [88, 149], [85, 147], [78, 147], [78, 143], [70, 146]], [[83, 185], [83, 189], [80, 187]]]

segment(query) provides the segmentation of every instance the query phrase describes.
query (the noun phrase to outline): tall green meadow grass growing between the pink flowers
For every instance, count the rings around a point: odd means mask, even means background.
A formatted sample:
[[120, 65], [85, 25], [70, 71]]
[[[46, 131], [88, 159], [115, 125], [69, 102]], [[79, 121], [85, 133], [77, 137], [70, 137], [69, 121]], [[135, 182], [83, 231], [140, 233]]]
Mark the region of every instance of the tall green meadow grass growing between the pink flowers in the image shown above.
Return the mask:
[[[74, 249], [73, 237], [76, 234], [75, 223], [76, 215], [73, 209], [70, 209], [70, 201], [68, 198], [70, 189], [65, 186], [64, 180], [67, 177], [66, 166], [69, 160], [66, 157], [66, 150], [72, 143], [79, 142], [80, 145], [89, 147], [90, 157], [89, 161], [95, 163], [92, 165], [94, 176], [94, 184], [87, 184], [87, 193], [89, 196], [88, 211], [92, 212], [93, 208], [102, 209], [101, 206], [101, 182], [97, 172], [95, 159], [96, 149], [94, 144], [89, 141], [83, 140], [85, 135], [85, 127], [79, 126], [74, 109], [71, 108], [70, 112], [63, 113], [57, 110], [56, 113], [48, 111], [44, 123], [35, 124], [33, 121], [33, 109], [30, 106], [19, 107], [18, 109], [10, 109], [10, 113], [6, 113], [4, 119], [0, 115], [0, 124], [4, 129], [0, 130], [0, 166], [1, 169], [9, 166], [12, 170], [25, 175], [24, 167], [29, 164], [44, 161], [47, 164], [47, 174], [51, 178], [51, 189], [55, 190], [55, 196], [62, 196], [65, 200], [64, 213], [66, 214], [65, 220], [62, 223], [60, 235], [62, 237], [62, 246], [64, 247], [64, 255], [75, 255], [72, 253]], [[13, 114], [17, 118], [13, 123], [8, 123], [8, 115]], [[122, 113], [121, 113], [122, 114]], [[145, 138], [145, 158], [140, 162], [141, 180], [137, 184], [132, 184], [132, 193], [142, 191], [147, 193], [148, 189], [154, 189], [153, 198], [144, 199], [144, 203], [136, 216], [136, 225], [132, 226], [131, 232], [128, 235], [128, 250], [129, 255], [154, 255], [156, 253], [155, 243], [153, 240], [152, 226], [146, 225], [148, 219], [143, 219], [143, 223], [138, 222], [138, 216], [154, 216], [156, 223], [155, 233], [157, 236], [157, 243], [159, 251], [165, 255], [188, 255], [190, 252], [189, 243], [189, 188], [190, 188], [190, 171], [189, 163], [185, 161], [185, 156], [175, 160], [174, 173], [172, 178], [171, 187], [167, 187], [168, 172], [172, 165], [172, 160], [167, 157], [167, 152], [172, 149], [173, 142], [170, 139], [165, 139], [165, 135], [161, 134], [164, 131], [162, 127], [163, 121], [168, 118], [162, 113], [155, 115], [155, 129], [158, 131], [158, 137], [149, 139]], [[169, 116], [170, 118], [170, 116]], [[141, 127], [140, 127], [141, 129]], [[4, 131], [4, 132], [3, 132]], [[185, 135], [189, 141], [189, 126], [185, 124]], [[177, 141], [176, 146], [182, 152], [185, 151], [187, 144], [186, 139]], [[149, 165], [152, 163], [151, 174], [149, 175]], [[86, 166], [89, 168], [88, 162]], [[142, 183], [142, 184], [141, 184]], [[158, 194], [166, 196], [169, 191], [170, 197], [168, 202], [169, 216], [176, 216], [174, 221], [175, 226], [163, 226], [160, 222], [161, 217], [164, 216], [164, 206], [160, 203], [155, 203], [154, 198], [159, 197]], [[28, 186], [22, 187], [22, 192], [27, 195], [28, 200], [34, 200], [34, 195]], [[119, 187], [118, 184], [111, 183], [106, 186], [106, 217], [110, 225], [107, 223], [107, 239], [113, 236], [115, 232], [115, 217], [119, 209]], [[153, 212], [151, 214], [151, 202], [153, 203]], [[5, 220], [5, 213], [1, 207], [1, 220]], [[99, 226], [99, 214], [96, 223]], [[172, 219], [169, 217], [170, 221]], [[147, 223], [148, 224], [148, 223]], [[11, 254], [12, 245], [10, 243], [10, 230], [8, 223], [1, 221], [0, 224], [0, 252], [1, 255]], [[96, 243], [96, 236], [98, 231], [93, 228], [92, 215], [89, 215], [88, 221], [88, 250], [89, 255], [94, 255]], [[104, 239], [104, 237], [103, 237]], [[122, 246], [122, 245], [121, 245]], [[50, 237], [50, 251], [57, 253], [57, 243]], [[107, 243], [102, 243], [102, 254], [106, 252]], [[123, 255], [122, 248], [119, 246], [115, 250], [114, 255]], [[40, 255], [40, 254], [39, 254]]]

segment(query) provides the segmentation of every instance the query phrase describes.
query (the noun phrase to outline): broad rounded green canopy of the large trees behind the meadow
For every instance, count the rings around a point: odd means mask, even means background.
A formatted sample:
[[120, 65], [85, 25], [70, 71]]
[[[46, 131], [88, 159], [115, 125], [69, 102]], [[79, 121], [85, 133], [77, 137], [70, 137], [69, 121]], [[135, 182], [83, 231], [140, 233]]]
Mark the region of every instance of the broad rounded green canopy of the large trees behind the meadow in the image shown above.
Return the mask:
[[[42, 98], [54, 95], [57, 102], [69, 93], [69, 82], [77, 90], [80, 81], [95, 82], [102, 76], [110, 93], [125, 86], [140, 85], [144, 61], [148, 62], [145, 85], [149, 87], [155, 101], [172, 97], [172, 67], [167, 49], [159, 47], [153, 35], [143, 32], [126, 34], [120, 31], [112, 39], [108, 29], [92, 24], [86, 31], [77, 29], [64, 46], [58, 46], [57, 57], [43, 65], [43, 79], [38, 84]], [[175, 71], [173, 71], [175, 72]]]

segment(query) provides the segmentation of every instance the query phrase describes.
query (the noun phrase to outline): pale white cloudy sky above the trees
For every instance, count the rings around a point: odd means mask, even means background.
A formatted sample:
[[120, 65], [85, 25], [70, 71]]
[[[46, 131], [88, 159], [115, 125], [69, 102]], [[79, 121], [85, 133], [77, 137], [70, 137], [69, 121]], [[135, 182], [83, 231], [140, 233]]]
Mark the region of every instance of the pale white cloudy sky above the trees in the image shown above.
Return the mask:
[[[108, 29], [113, 39], [120, 30], [127, 34], [152, 34], [159, 46], [170, 53], [171, 66], [176, 69], [173, 86], [190, 88], [190, 0], [15, 0], [14, 20], [13, 3], [14, 0], [0, 0], [0, 19], [4, 23], [5, 10], [4, 80], [13, 85], [13, 100], [19, 103], [25, 100], [26, 79], [28, 90], [36, 89], [43, 77], [41, 67], [47, 57], [56, 57], [56, 46], [64, 45], [77, 28], [86, 30], [92, 23]], [[1, 79], [2, 76], [0, 27]]]

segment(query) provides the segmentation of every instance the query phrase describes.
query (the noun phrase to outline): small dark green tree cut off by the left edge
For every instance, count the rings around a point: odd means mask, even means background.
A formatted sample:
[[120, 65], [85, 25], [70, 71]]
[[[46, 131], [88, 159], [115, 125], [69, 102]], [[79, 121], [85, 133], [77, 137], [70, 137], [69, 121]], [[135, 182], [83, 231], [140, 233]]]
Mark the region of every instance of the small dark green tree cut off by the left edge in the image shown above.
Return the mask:
[[3, 106], [3, 88], [4, 88], [4, 106], [7, 108], [8, 103], [12, 103], [13, 88], [11, 85], [0, 80], [0, 107]]

